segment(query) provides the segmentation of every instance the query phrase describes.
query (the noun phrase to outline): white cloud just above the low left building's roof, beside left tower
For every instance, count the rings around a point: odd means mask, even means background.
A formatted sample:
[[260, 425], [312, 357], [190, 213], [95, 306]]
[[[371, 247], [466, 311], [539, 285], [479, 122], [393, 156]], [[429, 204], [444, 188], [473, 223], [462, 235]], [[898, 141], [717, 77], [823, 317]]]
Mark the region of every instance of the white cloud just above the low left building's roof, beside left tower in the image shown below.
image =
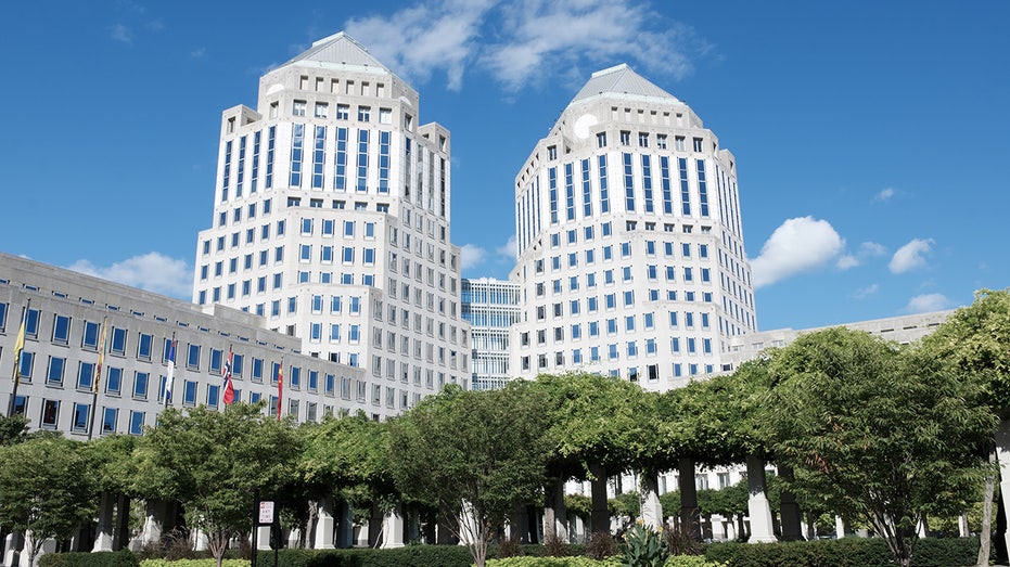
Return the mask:
[[108, 267], [77, 260], [68, 267], [75, 272], [112, 280], [150, 292], [190, 299], [193, 293], [193, 271], [184, 260], [169, 258], [156, 252], [127, 258]]

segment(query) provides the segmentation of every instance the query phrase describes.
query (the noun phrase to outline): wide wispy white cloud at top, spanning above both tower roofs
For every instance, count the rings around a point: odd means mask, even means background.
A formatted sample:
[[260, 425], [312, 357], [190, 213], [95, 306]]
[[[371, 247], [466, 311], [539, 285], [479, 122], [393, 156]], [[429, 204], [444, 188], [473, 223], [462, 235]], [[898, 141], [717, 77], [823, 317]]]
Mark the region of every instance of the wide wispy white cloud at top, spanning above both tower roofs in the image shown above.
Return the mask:
[[450, 90], [462, 88], [473, 66], [510, 92], [573, 70], [584, 80], [580, 65], [622, 61], [682, 78], [692, 57], [713, 49], [689, 26], [634, 0], [440, 0], [351, 18], [344, 28], [368, 38], [372, 53], [405, 78], [424, 82], [445, 73]]

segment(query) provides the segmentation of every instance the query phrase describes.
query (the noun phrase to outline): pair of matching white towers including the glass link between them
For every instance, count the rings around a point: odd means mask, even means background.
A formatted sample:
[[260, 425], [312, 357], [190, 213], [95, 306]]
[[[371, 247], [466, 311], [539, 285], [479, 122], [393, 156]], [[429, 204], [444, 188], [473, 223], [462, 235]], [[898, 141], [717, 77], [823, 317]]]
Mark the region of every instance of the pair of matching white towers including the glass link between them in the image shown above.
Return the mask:
[[[317, 41], [222, 114], [194, 302], [362, 369], [355, 387], [397, 412], [484, 384], [487, 349], [499, 375], [650, 390], [732, 370], [729, 338], [756, 331], [736, 158], [685, 103], [626, 65], [589, 78], [515, 177], [509, 282], [461, 278], [450, 151], [365, 47]], [[481, 302], [507, 314], [474, 319]]]

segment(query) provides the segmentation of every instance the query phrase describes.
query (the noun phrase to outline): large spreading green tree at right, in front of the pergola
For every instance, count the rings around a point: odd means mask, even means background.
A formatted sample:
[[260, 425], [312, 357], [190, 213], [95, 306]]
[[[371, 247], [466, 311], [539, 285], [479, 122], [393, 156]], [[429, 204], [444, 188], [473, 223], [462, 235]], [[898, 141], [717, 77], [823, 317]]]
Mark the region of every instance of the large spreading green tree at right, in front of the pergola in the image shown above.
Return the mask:
[[995, 416], [981, 388], [925, 352], [831, 328], [772, 357], [760, 414], [805, 498], [864, 519], [910, 563], [926, 513], [958, 507], [981, 480]]

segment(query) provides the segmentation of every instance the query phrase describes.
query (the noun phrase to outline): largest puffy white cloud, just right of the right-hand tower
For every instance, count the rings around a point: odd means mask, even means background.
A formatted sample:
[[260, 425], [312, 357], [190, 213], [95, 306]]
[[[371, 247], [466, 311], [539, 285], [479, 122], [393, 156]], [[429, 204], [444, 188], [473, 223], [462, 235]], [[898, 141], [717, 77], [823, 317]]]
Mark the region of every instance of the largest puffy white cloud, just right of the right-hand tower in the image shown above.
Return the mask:
[[760, 255], [751, 262], [754, 287], [816, 270], [836, 258], [844, 247], [845, 241], [827, 220], [788, 219], [775, 229]]

